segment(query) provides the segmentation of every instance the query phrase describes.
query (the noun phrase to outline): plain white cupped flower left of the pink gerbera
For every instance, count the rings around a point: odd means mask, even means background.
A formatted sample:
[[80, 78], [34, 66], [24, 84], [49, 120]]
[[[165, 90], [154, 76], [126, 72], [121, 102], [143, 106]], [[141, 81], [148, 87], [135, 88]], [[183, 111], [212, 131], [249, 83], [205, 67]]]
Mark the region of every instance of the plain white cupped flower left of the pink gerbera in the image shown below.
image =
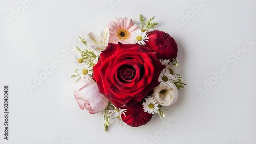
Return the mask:
[[106, 46], [109, 43], [110, 32], [108, 28], [104, 28], [100, 36], [96, 33], [89, 33], [87, 35], [88, 41], [92, 49], [96, 52], [101, 53], [101, 51], [105, 50]]

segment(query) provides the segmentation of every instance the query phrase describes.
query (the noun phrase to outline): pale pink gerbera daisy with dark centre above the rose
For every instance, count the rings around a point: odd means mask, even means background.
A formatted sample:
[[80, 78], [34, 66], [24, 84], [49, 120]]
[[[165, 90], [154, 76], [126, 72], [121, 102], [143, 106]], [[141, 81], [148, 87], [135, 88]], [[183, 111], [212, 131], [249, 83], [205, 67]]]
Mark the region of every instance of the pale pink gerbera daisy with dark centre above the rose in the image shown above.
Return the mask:
[[124, 44], [132, 44], [131, 43], [131, 32], [139, 29], [139, 26], [133, 23], [132, 19], [125, 18], [116, 18], [116, 22], [111, 21], [108, 24], [108, 28], [110, 29], [110, 39], [111, 43], [124, 43]]

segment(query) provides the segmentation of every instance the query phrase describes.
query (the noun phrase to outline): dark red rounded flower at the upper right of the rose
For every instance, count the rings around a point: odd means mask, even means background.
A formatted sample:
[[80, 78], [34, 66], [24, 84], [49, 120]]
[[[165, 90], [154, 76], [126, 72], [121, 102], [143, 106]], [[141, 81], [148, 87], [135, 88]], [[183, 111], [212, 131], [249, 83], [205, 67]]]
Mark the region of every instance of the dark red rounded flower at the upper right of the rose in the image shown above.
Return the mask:
[[154, 30], [148, 33], [148, 38], [145, 46], [153, 49], [159, 59], [173, 60], [177, 57], [177, 44], [169, 34]]

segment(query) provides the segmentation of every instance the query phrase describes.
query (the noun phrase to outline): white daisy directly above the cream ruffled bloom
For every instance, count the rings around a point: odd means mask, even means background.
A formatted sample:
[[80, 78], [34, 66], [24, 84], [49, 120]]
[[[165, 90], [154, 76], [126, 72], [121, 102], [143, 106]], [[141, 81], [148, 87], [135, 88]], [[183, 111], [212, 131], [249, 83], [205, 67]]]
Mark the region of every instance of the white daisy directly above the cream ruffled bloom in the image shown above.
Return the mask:
[[164, 68], [158, 77], [158, 81], [160, 82], [160, 86], [172, 86], [174, 82], [178, 81], [175, 75], [169, 73], [169, 69]]

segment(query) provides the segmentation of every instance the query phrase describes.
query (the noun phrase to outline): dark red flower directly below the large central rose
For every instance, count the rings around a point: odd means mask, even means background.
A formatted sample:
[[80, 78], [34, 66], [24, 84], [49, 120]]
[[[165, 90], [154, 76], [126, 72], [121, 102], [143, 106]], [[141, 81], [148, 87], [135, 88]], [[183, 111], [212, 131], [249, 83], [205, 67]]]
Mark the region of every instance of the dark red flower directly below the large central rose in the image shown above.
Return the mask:
[[122, 114], [123, 122], [132, 127], [138, 127], [141, 125], [145, 125], [148, 121], [150, 121], [153, 114], [149, 114], [144, 112], [142, 103], [137, 103], [131, 107], [123, 107], [127, 109], [125, 115]]

